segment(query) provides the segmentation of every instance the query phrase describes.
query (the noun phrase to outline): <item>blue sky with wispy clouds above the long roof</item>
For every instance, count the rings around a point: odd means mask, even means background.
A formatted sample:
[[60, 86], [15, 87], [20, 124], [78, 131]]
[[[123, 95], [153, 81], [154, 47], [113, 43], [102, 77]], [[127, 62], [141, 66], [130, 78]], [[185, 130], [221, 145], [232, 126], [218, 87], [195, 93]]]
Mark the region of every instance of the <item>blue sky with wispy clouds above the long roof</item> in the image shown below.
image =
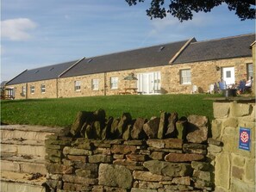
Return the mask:
[[188, 22], [172, 15], [150, 20], [147, 7], [129, 7], [125, 0], [2, 0], [1, 81], [83, 57], [255, 31], [254, 21], [241, 22], [225, 4]]

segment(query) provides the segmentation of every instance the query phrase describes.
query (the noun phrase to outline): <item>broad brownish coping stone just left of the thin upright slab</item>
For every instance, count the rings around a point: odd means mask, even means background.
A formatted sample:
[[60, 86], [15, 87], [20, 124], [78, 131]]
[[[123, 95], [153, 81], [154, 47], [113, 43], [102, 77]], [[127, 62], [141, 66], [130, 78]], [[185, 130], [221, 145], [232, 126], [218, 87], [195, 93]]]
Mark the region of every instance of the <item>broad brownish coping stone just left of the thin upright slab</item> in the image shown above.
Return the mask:
[[159, 121], [159, 117], [154, 117], [143, 125], [143, 130], [149, 139], [157, 138], [159, 131]]

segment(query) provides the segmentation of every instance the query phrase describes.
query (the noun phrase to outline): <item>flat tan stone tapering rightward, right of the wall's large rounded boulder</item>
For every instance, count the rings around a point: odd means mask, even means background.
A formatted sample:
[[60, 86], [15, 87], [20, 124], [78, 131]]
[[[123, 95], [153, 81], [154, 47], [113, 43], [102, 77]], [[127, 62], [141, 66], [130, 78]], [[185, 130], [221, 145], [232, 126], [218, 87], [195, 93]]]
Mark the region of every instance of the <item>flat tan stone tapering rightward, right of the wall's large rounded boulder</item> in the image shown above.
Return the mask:
[[172, 177], [165, 177], [162, 175], [153, 174], [149, 171], [134, 170], [134, 179], [147, 182], [160, 182], [160, 181], [171, 181]]

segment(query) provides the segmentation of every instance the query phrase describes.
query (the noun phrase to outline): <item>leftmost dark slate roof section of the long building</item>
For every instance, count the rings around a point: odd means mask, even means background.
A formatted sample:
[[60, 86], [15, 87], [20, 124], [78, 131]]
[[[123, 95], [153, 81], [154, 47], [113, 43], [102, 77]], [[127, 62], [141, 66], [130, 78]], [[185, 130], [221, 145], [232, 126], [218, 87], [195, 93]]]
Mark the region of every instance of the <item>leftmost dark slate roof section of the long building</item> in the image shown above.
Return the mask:
[[76, 62], [77, 60], [74, 60], [74, 61], [61, 63], [57, 65], [48, 65], [41, 68], [26, 70], [20, 73], [18, 76], [11, 79], [6, 85], [22, 84], [22, 83], [57, 78], [63, 71], [66, 71], [69, 67], [74, 65]]

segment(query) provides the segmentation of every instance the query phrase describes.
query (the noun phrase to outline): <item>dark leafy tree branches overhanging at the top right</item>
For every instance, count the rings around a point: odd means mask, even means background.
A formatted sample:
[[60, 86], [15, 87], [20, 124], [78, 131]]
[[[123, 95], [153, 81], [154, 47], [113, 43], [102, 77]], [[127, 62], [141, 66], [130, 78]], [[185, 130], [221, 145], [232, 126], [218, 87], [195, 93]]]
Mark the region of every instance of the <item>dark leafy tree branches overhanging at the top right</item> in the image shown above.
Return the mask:
[[[143, 3], [145, 0], [126, 0], [132, 6], [137, 3]], [[151, 0], [151, 6], [147, 9], [147, 15], [153, 18], [163, 19], [167, 13], [178, 18], [180, 22], [191, 20], [193, 12], [210, 12], [216, 6], [226, 3], [228, 9], [235, 10], [241, 21], [255, 19], [255, 1], [254, 0], [170, 0], [169, 6], [165, 0]]]

